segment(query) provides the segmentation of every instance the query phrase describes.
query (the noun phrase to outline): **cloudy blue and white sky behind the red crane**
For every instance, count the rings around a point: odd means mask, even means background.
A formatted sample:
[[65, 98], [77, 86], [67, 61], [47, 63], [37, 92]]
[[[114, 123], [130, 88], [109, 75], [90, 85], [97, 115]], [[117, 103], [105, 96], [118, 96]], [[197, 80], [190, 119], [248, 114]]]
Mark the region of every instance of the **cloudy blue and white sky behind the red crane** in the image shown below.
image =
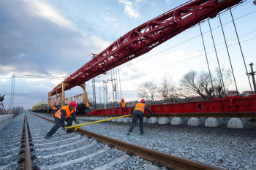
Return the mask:
[[[184, 0], [0, 0], [0, 94], [6, 95], [4, 107], [10, 106], [12, 74], [68, 77], [101, 53], [120, 36], [152, 18], [187, 1]], [[249, 63], [256, 64], [256, 6], [252, 0], [232, 9], [236, 29], [248, 72]], [[250, 90], [241, 50], [230, 12], [220, 15], [238, 91]], [[210, 20], [220, 66], [230, 69], [219, 18]], [[201, 25], [210, 70], [218, 66], [208, 23]], [[253, 66], [256, 70], [256, 67]], [[150, 52], [124, 63], [120, 70], [121, 95], [126, 101], [138, 100], [138, 86], [147, 80], [169, 76], [178, 85], [191, 70], [206, 71], [206, 55], [195, 26], [155, 47]], [[115, 69], [116, 70], [116, 69]], [[102, 80], [110, 80], [111, 72], [97, 77], [103, 101]], [[101, 88], [99, 89], [99, 81]], [[62, 80], [15, 79], [14, 107], [31, 109], [47, 100], [48, 92]], [[119, 80], [118, 80], [119, 81]], [[251, 81], [252, 82], [252, 81]], [[118, 85], [120, 88], [120, 85]], [[229, 90], [236, 90], [230, 85]], [[91, 80], [86, 91], [92, 98]], [[83, 93], [82, 88], [67, 90], [66, 97]], [[108, 94], [112, 100], [111, 84]]]

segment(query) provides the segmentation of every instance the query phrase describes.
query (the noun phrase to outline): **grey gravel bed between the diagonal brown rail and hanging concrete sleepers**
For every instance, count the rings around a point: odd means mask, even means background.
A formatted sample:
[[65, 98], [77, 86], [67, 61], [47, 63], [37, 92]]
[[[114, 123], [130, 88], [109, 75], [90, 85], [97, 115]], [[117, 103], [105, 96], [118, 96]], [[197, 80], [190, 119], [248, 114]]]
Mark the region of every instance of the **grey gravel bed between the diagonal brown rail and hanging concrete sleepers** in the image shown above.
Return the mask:
[[[50, 118], [49, 115], [43, 116]], [[256, 169], [255, 123], [246, 123], [242, 129], [227, 128], [227, 122], [216, 128], [145, 123], [143, 136], [140, 135], [138, 123], [132, 134], [127, 136], [129, 125], [130, 123], [104, 122], [82, 128], [225, 169]]]

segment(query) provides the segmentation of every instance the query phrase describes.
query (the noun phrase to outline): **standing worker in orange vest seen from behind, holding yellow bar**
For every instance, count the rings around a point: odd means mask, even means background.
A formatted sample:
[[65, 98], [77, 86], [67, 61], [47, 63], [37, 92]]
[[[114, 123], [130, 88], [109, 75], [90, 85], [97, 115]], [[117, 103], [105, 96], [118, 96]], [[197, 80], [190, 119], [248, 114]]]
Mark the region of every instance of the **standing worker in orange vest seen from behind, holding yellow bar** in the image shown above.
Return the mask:
[[144, 117], [144, 111], [148, 111], [151, 115], [153, 115], [153, 112], [151, 112], [150, 109], [148, 109], [148, 107], [145, 105], [145, 100], [141, 99], [140, 103], [135, 104], [134, 107], [132, 107], [131, 109], [131, 114], [132, 114], [132, 123], [129, 126], [129, 132], [128, 132], [128, 136], [129, 134], [132, 133], [132, 130], [135, 128], [136, 122], [139, 119], [140, 121], [140, 134], [143, 135], [144, 131], [143, 131], [143, 117]]

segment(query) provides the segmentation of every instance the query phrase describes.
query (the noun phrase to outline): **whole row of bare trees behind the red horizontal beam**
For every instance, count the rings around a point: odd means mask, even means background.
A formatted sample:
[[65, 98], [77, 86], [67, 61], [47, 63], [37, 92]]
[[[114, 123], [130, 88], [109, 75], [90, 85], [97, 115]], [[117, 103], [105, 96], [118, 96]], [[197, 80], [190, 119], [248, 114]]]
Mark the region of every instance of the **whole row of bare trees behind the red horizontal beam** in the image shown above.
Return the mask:
[[148, 80], [138, 87], [138, 97], [146, 98], [148, 104], [176, 103], [211, 100], [223, 98], [232, 85], [232, 72], [222, 67], [221, 72], [197, 72], [191, 70], [181, 77], [176, 84], [170, 76], [164, 76], [160, 81]]

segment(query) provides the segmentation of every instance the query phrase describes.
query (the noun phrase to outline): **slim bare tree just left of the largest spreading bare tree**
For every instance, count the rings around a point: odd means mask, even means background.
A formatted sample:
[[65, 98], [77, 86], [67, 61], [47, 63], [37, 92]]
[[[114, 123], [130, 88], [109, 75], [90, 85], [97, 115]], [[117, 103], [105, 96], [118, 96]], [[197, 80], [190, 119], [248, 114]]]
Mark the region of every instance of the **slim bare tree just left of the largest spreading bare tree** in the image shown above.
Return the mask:
[[162, 77], [159, 92], [165, 103], [176, 102], [176, 99], [178, 98], [175, 84], [172, 79], [166, 75]]

